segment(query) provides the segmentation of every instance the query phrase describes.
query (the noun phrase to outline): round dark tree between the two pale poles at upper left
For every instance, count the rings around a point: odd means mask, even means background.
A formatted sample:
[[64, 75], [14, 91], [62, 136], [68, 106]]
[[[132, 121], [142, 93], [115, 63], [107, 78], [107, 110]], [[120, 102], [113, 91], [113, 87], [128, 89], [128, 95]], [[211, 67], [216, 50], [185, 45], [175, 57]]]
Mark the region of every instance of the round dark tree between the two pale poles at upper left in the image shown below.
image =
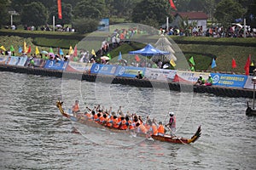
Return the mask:
[[39, 2], [26, 4], [21, 11], [20, 20], [23, 25], [42, 26], [47, 23], [48, 10]]

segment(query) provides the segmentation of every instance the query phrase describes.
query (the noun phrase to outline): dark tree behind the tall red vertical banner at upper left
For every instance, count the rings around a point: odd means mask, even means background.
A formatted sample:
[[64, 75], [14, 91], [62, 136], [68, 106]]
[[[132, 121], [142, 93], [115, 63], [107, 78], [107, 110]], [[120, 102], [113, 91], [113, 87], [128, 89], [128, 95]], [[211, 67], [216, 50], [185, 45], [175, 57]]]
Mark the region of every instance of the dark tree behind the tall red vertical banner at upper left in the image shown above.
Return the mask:
[[57, 5], [50, 8], [49, 23], [52, 23], [52, 16], [55, 16], [55, 23], [64, 26], [64, 24], [71, 24], [73, 17], [73, 8], [70, 3], [61, 3], [62, 19], [58, 18], [58, 7]]

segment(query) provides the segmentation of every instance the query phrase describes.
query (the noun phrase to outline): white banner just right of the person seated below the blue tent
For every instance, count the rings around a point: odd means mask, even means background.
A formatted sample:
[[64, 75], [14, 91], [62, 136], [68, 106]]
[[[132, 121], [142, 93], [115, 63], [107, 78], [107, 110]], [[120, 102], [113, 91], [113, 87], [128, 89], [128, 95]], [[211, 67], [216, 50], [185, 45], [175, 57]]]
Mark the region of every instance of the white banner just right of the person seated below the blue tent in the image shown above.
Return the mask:
[[172, 81], [176, 73], [176, 70], [146, 68], [145, 78], [149, 80]]

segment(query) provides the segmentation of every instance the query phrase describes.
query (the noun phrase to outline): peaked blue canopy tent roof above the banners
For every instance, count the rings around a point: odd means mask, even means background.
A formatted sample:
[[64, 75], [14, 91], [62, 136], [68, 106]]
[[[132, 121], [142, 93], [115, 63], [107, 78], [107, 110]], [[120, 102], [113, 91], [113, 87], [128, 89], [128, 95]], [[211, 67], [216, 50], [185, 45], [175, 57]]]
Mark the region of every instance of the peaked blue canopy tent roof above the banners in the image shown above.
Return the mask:
[[158, 48], [154, 48], [150, 43], [142, 49], [139, 49], [137, 51], [130, 51], [129, 54], [141, 54], [143, 56], [153, 56], [153, 55], [166, 55], [170, 54], [170, 52], [167, 51], [161, 51]]

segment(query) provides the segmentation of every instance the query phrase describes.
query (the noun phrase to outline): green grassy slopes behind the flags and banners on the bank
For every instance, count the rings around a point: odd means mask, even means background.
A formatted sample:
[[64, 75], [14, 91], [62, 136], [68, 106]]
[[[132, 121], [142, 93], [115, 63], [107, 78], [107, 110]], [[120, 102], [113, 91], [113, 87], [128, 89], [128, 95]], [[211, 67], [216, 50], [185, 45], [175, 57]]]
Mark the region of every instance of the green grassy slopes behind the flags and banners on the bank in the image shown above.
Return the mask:
[[[9, 32], [11, 35], [12, 32]], [[24, 31], [20, 31], [20, 33], [22, 32]], [[29, 37], [30, 33], [31, 37]], [[40, 36], [38, 36], [39, 34]], [[7, 49], [13, 45], [17, 54], [19, 46], [22, 47], [23, 42], [26, 41], [27, 46], [32, 46], [32, 53], [35, 52], [36, 45], [39, 51], [49, 51], [49, 47], [52, 47], [56, 53], [57, 48], [61, 47], [64, 53], [67, 53], [68, 48], [74, 47], [79, 42], [79, 38], [82, 37], [85, 35], [71, 32], [42, 31], [41, 34], [41, 31], [26, 31], [26, 37], [0, 36], [0, 45]], [[243, 74], [248, 55], [252, 54], [253, 61], [256, 59], [255, 38], [172, 37], [172, 40], [177, 42], [187, 59], [191, 55], [194, 57], [195, 70], [198, 71], [224, 71]], [[134, 47], [125, 45], [113, 50], [111, 54], [118, 56], [119, 51], [125, 54], [131, 50], [134, 50]], [[212, 56], [216, 57], [217, 64], [217, 67], [213, 69], [211, 68]], [[236, 59], [237, 68], [235, 69], [231, 67], [232, 59]]]

